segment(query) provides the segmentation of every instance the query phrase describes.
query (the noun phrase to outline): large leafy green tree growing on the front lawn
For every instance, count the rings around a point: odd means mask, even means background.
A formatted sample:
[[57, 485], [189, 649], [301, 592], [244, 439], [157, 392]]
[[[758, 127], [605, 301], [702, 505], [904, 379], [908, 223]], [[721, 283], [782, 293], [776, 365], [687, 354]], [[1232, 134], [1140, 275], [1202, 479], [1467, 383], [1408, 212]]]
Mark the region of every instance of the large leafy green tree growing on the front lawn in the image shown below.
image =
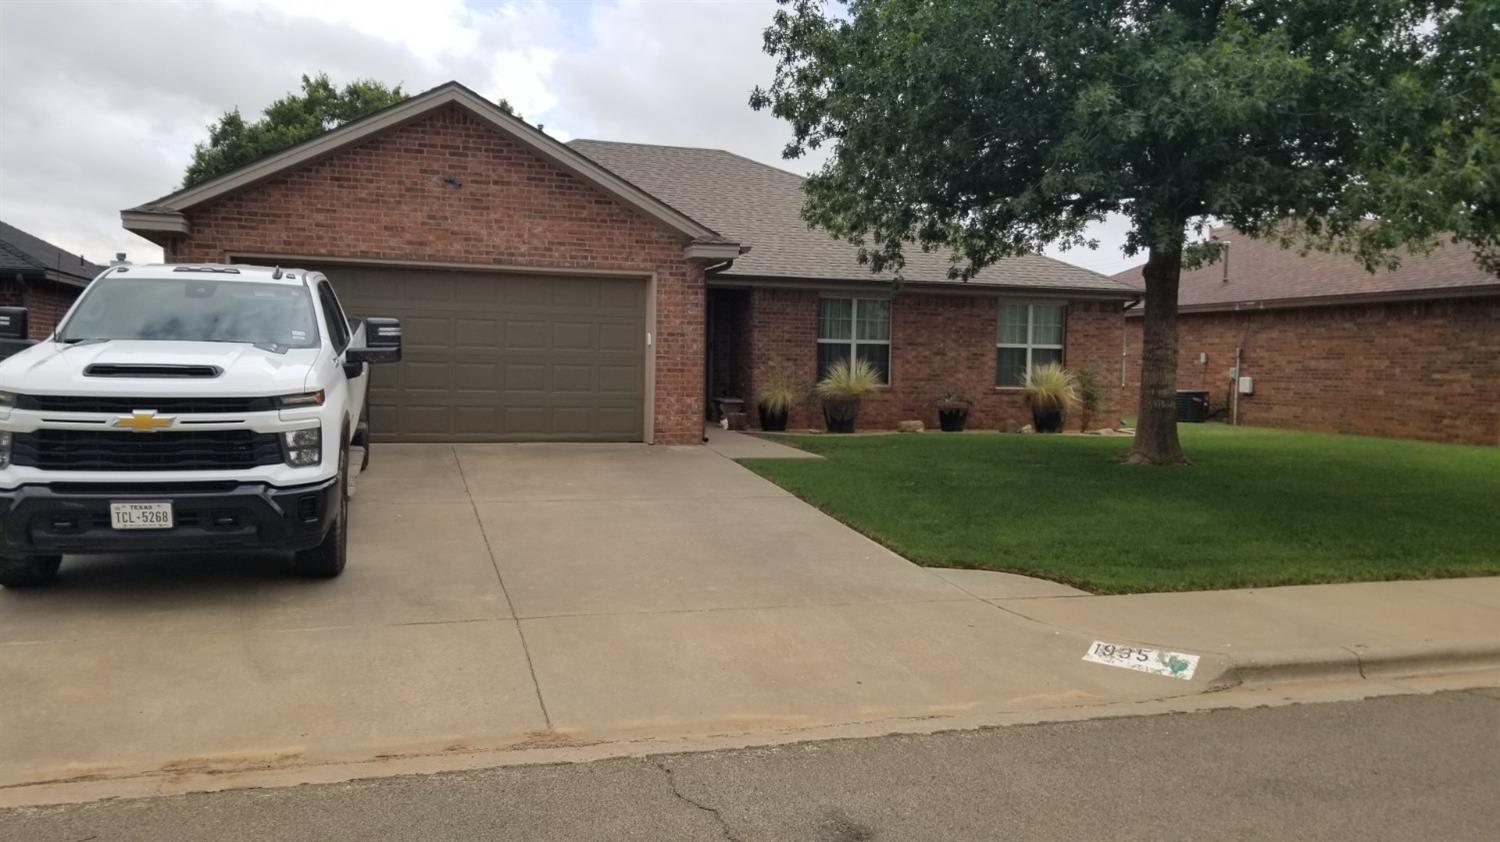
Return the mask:
[[1443, 233], [1500, 264], [1496, 0], [782, 0], [752, 107], [830, 146], [807, 219], [952, 275], [1130, 219], [1148, 252], [1131, 459], [1182, 462], [1178, 282], [1209, 221], [1366, 266]]

